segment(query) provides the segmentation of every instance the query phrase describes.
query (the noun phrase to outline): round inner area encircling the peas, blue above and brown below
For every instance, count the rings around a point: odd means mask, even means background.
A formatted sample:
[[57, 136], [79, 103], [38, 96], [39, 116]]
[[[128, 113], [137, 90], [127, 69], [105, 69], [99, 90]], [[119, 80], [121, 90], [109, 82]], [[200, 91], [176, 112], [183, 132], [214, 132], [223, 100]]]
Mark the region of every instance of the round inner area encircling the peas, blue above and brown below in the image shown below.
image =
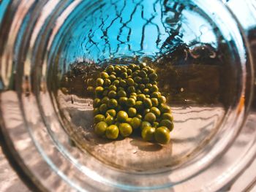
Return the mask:
[[[49, 76], [67, 133], [81, 150], [118, 169], [146, 172], [187, 161], [214, 137], [236, 100], [240, 68], [232, 42], [195, 4], [116, 1], [89, 13], [69, 27], [54, 58], [59, 75]], [[140, 62], [156, 69], [172, 107], [168, 145], [136, 136], [110, 141], [93, 132], [85, 81], [108, 64]]]

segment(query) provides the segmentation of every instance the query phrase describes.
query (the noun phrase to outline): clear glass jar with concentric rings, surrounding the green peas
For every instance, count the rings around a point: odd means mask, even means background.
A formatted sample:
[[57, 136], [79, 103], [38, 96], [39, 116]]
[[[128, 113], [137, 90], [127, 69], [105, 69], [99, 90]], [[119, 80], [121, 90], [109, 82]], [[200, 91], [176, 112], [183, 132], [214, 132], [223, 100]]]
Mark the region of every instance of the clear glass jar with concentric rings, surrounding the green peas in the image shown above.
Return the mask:
[[[229, 188], [256, 154], [255, 20], [233, 2], [1, 1], [1, 138], [18, 172], [41, 191]], [[171, 142], [95, 137], [84, 81], [141, 62], [172, 107]]]

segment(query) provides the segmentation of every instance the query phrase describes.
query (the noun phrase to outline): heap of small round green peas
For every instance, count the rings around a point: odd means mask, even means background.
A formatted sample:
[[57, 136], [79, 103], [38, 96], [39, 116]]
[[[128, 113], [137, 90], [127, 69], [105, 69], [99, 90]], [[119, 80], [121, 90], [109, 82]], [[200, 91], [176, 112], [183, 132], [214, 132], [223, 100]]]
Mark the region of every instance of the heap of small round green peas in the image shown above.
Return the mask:
[[154, 69], [145, 63], [110, 65], [99, 74], [94, 91], [95, 134], [117, 139], [140, 130], [145, 141], [169, 142], [173, 116]]

